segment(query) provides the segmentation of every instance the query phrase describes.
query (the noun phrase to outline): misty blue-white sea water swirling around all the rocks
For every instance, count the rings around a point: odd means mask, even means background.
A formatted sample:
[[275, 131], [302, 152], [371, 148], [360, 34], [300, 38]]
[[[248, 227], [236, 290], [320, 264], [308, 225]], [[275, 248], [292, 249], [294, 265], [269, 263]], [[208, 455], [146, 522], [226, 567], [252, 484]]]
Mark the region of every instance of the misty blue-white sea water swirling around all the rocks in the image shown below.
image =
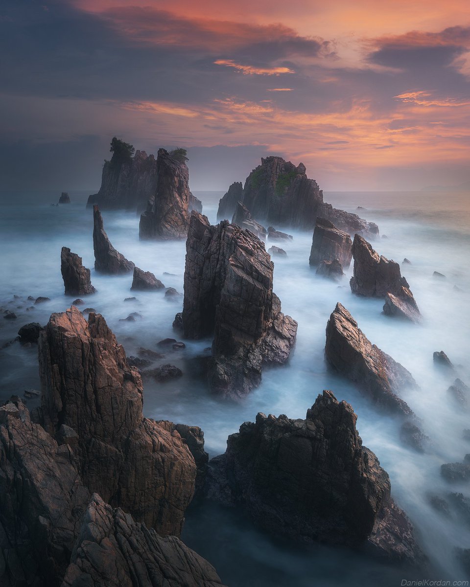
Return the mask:
[[[195, 193], [204, 214], [215, 222], [221, 193]], [[27, 322], [45, 324], [51, 312], [69, 307], [74, 299], [63, 295], [61, 247], [70, 247], [92, 272], [96, 294], [86, 296], [85, 307], [105, 316], [127, 355], [137, 348], [158, 350], [160, 339], [178, 338], [172, 330], [182, 298], [169, 301], [164, 292], [130, 292], [132, 274], [103, 276], [93, 269], [92, 211], [85, 209], [86, 195], [70, 193], [72, 204], [52, 207], [59, 194], [2, 194], [0, 205], [0, 306], [14, 311], [15, 321], [0, 318], [0, 346], [16, 336]], [[274, 259], [274, 291], [283, 312], [298, 322], [296, 348], [287, 366], [265, 370], [260, 387], [240, 402], [228, 402], [207, 392], [198, 357], [207, 356], [211, 340], [185, 341], [186, 349], [168, 352], [156, 365], [172, 363], [183, 370], [180, 379], [158, 384], [144, 380], [147, 417], [168, 419], [202, 427], [210, 456], [223, 453], [229, 434], [257, 412], [304, 418], [323, 389], [338, 400], [350, 402], [358, 414], [357, 428], [365, 446], [377, 454], [390, 474], [392, 497], [415, 526], [419, 543], [429, 558], [427, 571], [397, 569], [348, 549], [326, 546], [296, 547], [282, 544], [256, 531], [239, 512], [215, 505], [193, 505], [187, 511], [183, 539], [216, 567], [231, 587], [400, 585], [402, 579], [466, 579], [455, 558], [455, 548], [470, 548], [470, 520], [451, 509], [435, 511], [429, 494], [446, 498], [450, 492], [470, 497], [468, 484], [449, 484], [440, 475], [442, 463], [462, 461], [470, 453], [463, 439], [470, 428], [469, 412], [447, 393], [455, 377], [470, 384], [468, 355], [470, 332], [470, 205], [468, 194], [330, 193], [325, 200], [347, 211], [358, 211], [377, 222], [381, 235], [373, 247], [402, 265], [402, 274], [424, 317], [422, 325], [402, 322], [382, 314], [381, 299], [351, 294], [346, 271], [339, 284], [315, 276], [308, 265], [310, 232], [291, 232], [283, 242], [286, 259]], [[167, 287], [183, 292], [184, 242], [139, 242], [135, 214], [103, 212], [110, 241], [125, 257], [145, 271], [152, 271]], [[279, 245], [279, 243], [275, 243]], [[268, 241], [267, 248], [270, 246]], [[434, 271], [446, 277], [432, 276]], [[14, 298], [19, 296], [19, 298]], [[26, 298], [47, 296], [34, 305]], [[136, 296], [137, 300], [124, 301]], [[404, 447], [400, 423], [372, 409], [367, 398], [343, 377], [328, 371], [324, 362], [325, 326], [337, 302], [351, 312], [365, 335], [411, 371], [418, 390], [402, 390], [401, 397], [422, 420], [431, 438], [425, 454]], [[26, 308], [32, 308], [26, 311]], [[130, 313], [142, 318], [125, 322]], [[444, 350], [456, 373], [435, 369], [432, 353]], [[40, 389], [36, 348], [18, 342], [0, 351], [0, 399], [22, 396], [25, 389]], [[28, 400], [31, 408], [38, 401]]]

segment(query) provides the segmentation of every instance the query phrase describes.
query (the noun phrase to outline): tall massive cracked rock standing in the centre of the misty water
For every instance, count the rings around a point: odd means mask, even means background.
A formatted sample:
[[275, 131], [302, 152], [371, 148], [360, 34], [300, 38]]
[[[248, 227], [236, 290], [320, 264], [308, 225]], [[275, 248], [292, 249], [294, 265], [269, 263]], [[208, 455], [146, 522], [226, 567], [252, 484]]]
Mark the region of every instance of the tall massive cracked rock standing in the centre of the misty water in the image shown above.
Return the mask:
[[227, 221], [211, 226], [192, 212], [186, 242], [184, 303], [186, 338], [214, 335], [208, 365], [210, 389], [239, 397], [261, 380], [263, 365], [284, 364], [297, 322], [281, 313], [273, 294], [273, 269], [264, 244]]

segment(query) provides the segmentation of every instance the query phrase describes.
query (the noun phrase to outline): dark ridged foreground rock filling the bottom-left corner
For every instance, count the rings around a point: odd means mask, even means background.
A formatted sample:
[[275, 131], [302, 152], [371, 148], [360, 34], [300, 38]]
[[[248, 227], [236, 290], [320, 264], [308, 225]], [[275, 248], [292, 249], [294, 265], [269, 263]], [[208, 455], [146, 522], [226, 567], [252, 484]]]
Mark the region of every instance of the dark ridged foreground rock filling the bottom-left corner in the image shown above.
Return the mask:
[[0, 407], [1, 584], [220, 585], [213, 567], [179, 539], [162, 538], [90, 495], [76, 436], [66, 429], [58, 444], [21, 400]]

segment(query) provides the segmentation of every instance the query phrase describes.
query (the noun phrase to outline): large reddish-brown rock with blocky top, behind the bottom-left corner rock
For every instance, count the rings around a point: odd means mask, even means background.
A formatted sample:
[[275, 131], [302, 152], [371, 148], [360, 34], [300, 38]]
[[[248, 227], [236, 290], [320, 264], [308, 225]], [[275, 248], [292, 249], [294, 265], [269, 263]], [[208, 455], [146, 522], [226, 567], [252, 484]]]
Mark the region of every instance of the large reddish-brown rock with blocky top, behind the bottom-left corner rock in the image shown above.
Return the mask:
[[159, 534], [179, 535], [196, 465], [175, 431], [142, 416], [142, 380], [99, 314], [52, 314], [39, 339], [44, 427], [78, 434], [82, 479]]

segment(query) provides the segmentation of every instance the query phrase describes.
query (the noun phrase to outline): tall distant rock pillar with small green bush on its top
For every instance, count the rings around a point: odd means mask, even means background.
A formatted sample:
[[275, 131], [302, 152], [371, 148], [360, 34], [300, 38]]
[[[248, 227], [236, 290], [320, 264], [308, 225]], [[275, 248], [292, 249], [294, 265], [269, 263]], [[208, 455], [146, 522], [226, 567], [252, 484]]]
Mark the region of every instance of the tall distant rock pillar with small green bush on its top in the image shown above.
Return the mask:
[[140, 239], [186, 238], [189, 225], [189, 171], [165, 149], [157, 155], [157, 189], [140, 216]]

